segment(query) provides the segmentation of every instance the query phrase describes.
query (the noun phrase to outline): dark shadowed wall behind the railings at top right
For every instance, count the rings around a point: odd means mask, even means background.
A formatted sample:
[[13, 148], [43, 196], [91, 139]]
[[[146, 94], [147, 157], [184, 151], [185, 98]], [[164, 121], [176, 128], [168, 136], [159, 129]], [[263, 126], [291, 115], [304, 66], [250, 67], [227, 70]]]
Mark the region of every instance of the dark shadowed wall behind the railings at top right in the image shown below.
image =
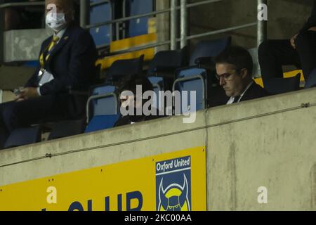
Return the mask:
[[[197, 2], [201, 0], [191, 0]], [[268, 0], [268, 38], [289, 39], [301, 29], [311, 12], [312, 0]], [[256, 0], [223, 0], [190, 10], [190, 32], [199, 34], [257, 21]], [[231, 35], [233, 44], [256, 47], [256, 26], [202, 39]], [[201, 40], [201, 39], [199, 39]], [[195, 43], [198, 40], [192, 41]]]

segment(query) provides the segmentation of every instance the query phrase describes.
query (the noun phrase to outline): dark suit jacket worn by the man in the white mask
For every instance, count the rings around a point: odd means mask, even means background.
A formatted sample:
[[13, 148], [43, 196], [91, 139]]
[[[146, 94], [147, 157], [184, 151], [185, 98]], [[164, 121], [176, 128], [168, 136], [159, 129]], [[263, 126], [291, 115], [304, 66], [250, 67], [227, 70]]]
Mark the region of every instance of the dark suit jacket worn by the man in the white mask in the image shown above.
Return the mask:
[[[41, 44], [41, 53], [48, 49], [53, 37]], [[61, 94], [67, 89], [88, 89], [93, 76], [96, 75], [98, 53], [91, 34], [79, 25], [70, 24], [62, 39], [54, 47], [44, 68], [53, 74], [54, 79], [41, 86], [41, 95]], [[38, 68], [25, 86], [37, 87]]]

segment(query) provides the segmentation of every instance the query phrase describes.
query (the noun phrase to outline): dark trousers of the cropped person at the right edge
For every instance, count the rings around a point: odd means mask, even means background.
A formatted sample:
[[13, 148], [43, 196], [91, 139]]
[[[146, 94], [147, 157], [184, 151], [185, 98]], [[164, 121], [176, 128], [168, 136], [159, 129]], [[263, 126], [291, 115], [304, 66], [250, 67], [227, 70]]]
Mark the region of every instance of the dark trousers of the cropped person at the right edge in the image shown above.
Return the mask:
[[283, 77], [282, 65], [296, 65], [303, 70], [305, 80], [316, 68], [316, 32], [298, 34], [296, 49], [290, 40], [267, 40], [258, 49], [263, 82], [273, 77]]

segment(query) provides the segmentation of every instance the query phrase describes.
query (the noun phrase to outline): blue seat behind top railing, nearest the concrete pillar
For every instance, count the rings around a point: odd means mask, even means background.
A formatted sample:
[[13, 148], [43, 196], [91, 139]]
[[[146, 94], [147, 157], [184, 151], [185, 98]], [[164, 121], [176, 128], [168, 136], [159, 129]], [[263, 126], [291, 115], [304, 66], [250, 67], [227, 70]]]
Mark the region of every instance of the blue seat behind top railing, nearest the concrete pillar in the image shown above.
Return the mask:
[[[140, 15], [151, 13], [153, 11], [153, 1], [146, 0], [124, 0], [124, 7], [126, 10], [126, 17], [133, 15]], [[131, 20], [129, 22], [127, 37], [136, 37], [148, 33], [148, 19], [150, 17], [143, 17]]]

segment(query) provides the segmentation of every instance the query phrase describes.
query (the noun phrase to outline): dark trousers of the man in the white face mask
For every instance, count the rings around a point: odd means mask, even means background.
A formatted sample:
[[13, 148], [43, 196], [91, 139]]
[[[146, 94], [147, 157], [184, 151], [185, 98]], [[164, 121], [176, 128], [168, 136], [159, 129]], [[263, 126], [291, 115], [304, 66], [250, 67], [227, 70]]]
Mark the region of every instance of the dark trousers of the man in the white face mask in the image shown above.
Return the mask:
[[0, 104], [0, 149], [4, 147], [6, 139], [14, 129], [42, 122], [69, 120], [79, 114], [82, 116], [82, 113], [74, 108], [74, 101], [70, 95], [40, 96], [21, 102], [2, 103]]

